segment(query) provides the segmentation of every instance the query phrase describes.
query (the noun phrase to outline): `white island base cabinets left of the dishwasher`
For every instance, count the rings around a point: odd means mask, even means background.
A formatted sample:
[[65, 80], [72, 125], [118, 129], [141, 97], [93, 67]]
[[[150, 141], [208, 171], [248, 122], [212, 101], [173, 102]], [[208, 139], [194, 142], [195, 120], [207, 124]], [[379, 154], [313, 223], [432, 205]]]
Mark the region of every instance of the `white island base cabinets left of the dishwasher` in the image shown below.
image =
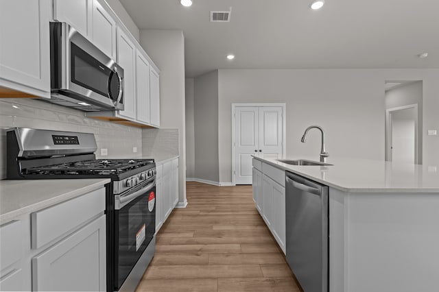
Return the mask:
[[252, 175], [257, 210], [285, 254], [285, 171], [253, 158]]

